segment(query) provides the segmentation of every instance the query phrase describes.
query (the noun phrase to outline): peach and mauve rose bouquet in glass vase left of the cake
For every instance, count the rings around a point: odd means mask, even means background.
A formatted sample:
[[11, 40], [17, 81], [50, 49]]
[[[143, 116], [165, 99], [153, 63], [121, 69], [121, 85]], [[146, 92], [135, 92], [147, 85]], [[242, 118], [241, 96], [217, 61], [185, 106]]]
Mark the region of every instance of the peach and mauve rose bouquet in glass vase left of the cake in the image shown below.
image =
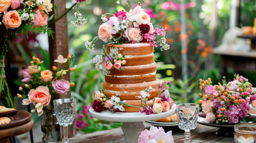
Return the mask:
[[[60, 57], [63, 57], [62, 55]], [[68, 60], [69, 59], [69, 60]], [[74, 61], [74, 55], [69, 55], [69, 58], [63, 58], [66, 63], [62, 60], [55, 60], [58, 63], [63, 64], [64, 69], [57, 69], [53, 66], [53, 71], [42, 70], [43, 61], [39, 58], [32, 57], [31, 66], [28, 69], [20, 71], [22, 74], [22, 86], [19, 87], [19, 91], [22, 92], [17, 94], [19, 98], [23, 98], [22, 104], [35, 105], [35, 109], [31, 112], [37, 112], [38, 116], [44, 111], [44, 107], [52, 104], [54, 93], [66, 94], [74, 86], [74, 83], [69, 83], [68, 80], [61, 79], [64, 75], [63, 73], [74, 71], [74, 67], [67, 68], [69, 64]]]

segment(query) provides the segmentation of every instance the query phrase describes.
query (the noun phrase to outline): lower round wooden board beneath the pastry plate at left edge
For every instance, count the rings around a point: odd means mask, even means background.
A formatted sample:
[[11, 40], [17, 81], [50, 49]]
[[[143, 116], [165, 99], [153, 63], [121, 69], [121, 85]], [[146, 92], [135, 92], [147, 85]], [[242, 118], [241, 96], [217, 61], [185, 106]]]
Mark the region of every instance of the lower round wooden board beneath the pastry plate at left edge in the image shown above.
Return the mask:
[[12, 128], [0, 129], [0, 138], [10, 138], [11, 136], [21, 135], [22, 133], [28, 132], [33, 128], [33, 119], [29, 122], [14, 126]]

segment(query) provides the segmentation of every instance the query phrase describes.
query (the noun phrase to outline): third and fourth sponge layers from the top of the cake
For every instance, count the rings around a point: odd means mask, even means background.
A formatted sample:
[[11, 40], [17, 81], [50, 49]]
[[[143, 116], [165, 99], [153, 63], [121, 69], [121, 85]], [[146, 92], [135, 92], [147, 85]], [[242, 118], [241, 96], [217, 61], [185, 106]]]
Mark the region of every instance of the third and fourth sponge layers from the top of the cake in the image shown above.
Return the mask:
[[142, 83], [156, 80], [157, 64], [144, 64], [139, 66], [123, 66], [121, 70], [111, 69], [105, 75], [108, 83]]

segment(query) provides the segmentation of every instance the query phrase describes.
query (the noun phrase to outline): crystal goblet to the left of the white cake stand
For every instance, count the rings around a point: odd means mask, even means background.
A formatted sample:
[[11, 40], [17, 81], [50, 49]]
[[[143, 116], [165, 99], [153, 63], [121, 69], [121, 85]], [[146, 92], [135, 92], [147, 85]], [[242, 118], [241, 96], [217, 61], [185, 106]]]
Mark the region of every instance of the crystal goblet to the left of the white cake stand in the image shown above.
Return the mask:
[[57, 118], [57, 123], [63, 126], [62, 142], [68, 142], [68, 125], [72, 125], [75, 119], [77, 110], [77, 101], [72, 98], [63, 98], [53, 101], [54, 112]]

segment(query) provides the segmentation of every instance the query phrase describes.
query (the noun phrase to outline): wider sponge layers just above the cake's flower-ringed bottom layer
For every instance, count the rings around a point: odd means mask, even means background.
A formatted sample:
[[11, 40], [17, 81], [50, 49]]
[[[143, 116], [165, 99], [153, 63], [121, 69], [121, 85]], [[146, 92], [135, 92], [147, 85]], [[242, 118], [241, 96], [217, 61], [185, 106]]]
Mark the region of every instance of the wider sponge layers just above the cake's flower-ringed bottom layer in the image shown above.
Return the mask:
[[153, 89], [150, 89], [150, 96], [148, 99], [157, 97], [157, 87], [160, 85], [158, 79], [152, 82], [143, 82], [143, 83], [127, 83], [127, 84], [117, 84], [117, 83], [108, 83], [103, 82], [102, 92], [108, 98], [112, 96], [119, 97], [120, 100], [139, 100], [138, 97], [141, 96], [141, 91], [145, 91], [146, 88], [151, 86]]

